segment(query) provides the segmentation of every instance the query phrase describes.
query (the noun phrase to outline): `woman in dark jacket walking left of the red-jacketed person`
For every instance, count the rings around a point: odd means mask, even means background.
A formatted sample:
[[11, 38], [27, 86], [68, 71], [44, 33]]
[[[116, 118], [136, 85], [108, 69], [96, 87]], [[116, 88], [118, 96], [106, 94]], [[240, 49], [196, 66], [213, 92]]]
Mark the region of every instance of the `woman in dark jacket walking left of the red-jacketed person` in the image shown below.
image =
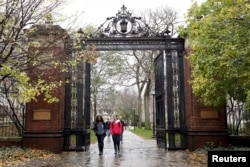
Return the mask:
[[104, 138], [106, 136], [106, 126], [101, 115], [98, 115], [94, 124], [94, 131], [98, 141], [99, 155], [103, 154]]

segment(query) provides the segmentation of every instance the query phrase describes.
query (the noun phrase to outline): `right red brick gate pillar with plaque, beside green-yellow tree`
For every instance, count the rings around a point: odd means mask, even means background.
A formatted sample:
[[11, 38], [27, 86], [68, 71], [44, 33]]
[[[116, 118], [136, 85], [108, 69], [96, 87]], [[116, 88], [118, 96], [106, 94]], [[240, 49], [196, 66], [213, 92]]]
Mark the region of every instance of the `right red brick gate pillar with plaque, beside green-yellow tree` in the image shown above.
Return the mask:
[[[188, 56], [189, 48], [187, 47], [186, 53]], [[185, 59], [184, 73], [187, 148], [195, 150], [198, 147], [206, 146], [208, 142], [227, 146], [228, 132], [225, 108], [212, 108], [198, 102], [188, 82], [191, 76], [191, 65], [187, 59]]]

